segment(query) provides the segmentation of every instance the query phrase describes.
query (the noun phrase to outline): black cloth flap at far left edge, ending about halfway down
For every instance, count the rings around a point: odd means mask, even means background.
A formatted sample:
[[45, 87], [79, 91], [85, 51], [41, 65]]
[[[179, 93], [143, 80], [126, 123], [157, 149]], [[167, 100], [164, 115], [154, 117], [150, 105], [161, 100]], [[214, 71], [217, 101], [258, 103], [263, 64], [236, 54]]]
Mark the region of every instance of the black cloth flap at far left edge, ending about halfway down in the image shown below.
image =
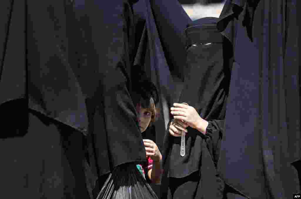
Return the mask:
[[26, 4], [6, 1], [1, 9], [0, 106], [26, 98]]

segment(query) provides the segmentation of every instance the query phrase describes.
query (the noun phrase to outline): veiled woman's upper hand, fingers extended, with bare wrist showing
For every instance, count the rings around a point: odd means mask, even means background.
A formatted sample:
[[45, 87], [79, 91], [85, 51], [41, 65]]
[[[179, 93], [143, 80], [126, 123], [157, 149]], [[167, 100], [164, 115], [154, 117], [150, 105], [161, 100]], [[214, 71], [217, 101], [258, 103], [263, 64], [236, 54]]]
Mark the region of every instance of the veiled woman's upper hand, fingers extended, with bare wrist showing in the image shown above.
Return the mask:
[[179, 103], [174, 103], [173, 106], [170, 110], [175, 119], [182, 120], [188, 126], [197, 129], [203, 134], [206, 133], [208, 122], [200, 117], [194, 107]]

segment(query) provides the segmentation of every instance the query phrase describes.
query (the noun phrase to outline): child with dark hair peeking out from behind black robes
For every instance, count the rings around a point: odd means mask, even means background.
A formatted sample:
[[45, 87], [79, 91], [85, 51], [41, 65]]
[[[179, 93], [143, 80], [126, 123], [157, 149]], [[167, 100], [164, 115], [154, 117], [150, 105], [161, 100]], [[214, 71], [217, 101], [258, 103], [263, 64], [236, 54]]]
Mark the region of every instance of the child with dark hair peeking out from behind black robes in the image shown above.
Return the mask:
[[[133, 99], [137, 111], [137, 122], [141, 133], [150, 127], [158, 116], [158, 92], [155, 85], [139, 72], [139, 80], [133, 89]], [[143, 139], [147, 162], [137, 168], [147, 182], [160, 184], [162, 176], [162, 155], [157, 144], [151, 139]]]

